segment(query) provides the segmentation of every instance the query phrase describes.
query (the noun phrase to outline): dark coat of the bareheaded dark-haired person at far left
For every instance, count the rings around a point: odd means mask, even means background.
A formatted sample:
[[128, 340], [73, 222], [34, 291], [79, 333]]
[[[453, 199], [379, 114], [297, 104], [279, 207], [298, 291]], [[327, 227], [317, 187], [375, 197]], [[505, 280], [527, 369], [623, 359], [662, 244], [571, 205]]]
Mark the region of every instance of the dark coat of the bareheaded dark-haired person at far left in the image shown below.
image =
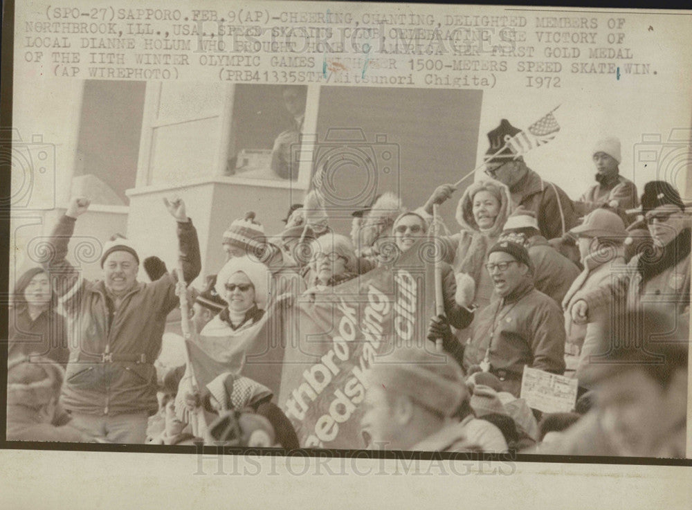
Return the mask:
[[32, 320], [26, 306], [10, 308], [8, 358], [17, 354], [40, 354], [64, 368], [70, 358], [65, 320], [53, 309]]

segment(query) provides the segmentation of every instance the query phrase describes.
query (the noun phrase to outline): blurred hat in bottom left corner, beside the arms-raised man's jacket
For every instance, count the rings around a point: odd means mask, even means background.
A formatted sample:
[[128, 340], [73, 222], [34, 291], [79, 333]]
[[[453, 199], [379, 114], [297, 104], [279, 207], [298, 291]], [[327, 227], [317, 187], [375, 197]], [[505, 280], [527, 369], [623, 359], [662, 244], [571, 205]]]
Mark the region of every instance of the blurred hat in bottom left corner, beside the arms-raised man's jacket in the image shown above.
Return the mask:
[[7, 365], [8, 405], [39, 408], [60, 397], [65, 372], [60, 365], [40, 356], [18, 356]]

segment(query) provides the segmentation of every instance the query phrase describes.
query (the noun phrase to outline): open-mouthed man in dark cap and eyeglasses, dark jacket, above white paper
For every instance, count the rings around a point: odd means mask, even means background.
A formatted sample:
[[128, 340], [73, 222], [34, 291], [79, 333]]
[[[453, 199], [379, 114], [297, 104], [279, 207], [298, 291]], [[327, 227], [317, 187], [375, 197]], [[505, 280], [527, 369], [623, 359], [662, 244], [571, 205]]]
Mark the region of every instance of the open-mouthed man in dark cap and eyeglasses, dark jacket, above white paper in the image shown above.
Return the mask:
[[468, 375], [490, 372], [500, 379], [502, 391], [518, 397], [525, 365], [565, 372], [564, 320], [557, 303], [534, 288], [534, 266], [520, 244], [495, 244], [486, 269], [495, 289], [473, 326], [464, 368]]

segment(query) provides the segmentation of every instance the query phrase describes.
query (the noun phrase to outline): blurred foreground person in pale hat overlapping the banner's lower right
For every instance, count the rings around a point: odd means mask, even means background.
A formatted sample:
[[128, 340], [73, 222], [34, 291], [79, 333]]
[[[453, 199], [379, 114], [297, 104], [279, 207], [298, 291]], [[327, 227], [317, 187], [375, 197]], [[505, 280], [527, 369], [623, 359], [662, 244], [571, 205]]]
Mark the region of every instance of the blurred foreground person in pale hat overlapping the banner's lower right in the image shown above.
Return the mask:
[[476, 419], [461, 367], [420, 347], [401, 347], [367, 372], [361, 433], [366, 448], [446, 452], [507, 451], [502, 432]]

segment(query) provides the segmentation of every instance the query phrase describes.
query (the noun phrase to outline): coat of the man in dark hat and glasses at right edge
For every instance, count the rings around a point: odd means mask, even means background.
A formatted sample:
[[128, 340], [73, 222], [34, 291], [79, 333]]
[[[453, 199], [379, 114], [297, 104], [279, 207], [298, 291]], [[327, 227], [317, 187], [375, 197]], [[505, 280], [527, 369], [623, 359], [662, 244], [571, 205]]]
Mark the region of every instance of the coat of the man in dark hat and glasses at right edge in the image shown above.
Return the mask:
[[661, 255], [635, 255], [610, 283], [583, 295], [588, 305], [589, 322], [598, 320], [597, 312], [603, 308], [608, 313], [623, 309], [659, 310], [666, 315], [674, 314], [677, 334], [686, 339], [689, 336], [691, 236], [691, 230], [686, 228], [663, 248]]

